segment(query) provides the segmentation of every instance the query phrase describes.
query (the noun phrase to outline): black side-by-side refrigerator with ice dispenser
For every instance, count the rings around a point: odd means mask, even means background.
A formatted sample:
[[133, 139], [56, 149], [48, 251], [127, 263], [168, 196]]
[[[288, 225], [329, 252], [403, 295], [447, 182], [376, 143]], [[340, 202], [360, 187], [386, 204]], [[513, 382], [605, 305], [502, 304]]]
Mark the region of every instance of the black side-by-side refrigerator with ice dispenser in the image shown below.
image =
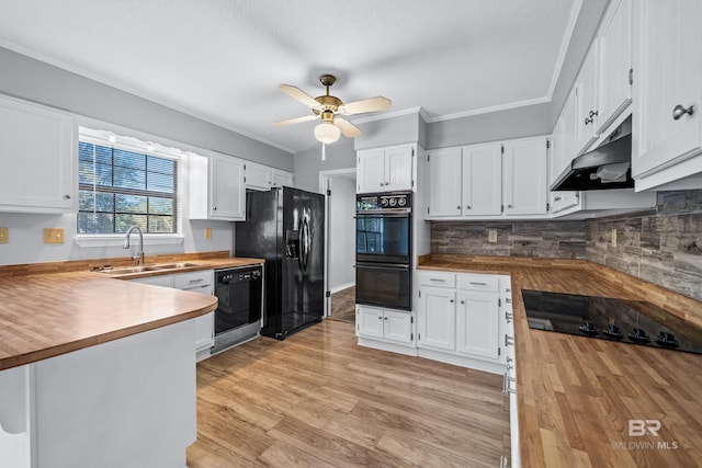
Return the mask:
[[248, 192], [236, 256], [265, 259], [261, 334], [284, 340], [324, 315], [325, 197], [292, 187]]

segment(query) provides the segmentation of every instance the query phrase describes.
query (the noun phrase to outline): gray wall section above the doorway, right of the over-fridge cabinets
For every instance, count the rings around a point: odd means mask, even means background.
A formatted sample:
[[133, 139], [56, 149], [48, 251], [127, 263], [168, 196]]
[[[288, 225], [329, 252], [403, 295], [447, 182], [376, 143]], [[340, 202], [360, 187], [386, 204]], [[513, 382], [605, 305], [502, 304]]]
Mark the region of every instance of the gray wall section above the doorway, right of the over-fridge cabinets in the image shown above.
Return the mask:
[[319, 192], [319, 171], [355, 168], [353, 141], [342, 137], [333, 145], [327, 145], [327, 158], [321, 160], [321, 144], [295, 155], [295, 186], [310, 192]]

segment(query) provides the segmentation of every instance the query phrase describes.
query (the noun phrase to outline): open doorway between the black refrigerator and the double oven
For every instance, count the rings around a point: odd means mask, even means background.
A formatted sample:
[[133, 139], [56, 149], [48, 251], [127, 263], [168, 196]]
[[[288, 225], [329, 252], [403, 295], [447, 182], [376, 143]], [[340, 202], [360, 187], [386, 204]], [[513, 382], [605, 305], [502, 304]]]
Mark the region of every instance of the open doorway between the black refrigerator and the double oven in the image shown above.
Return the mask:
[[325, 194], [325, 317], [355, 321], [355, 168], [319, 172]]

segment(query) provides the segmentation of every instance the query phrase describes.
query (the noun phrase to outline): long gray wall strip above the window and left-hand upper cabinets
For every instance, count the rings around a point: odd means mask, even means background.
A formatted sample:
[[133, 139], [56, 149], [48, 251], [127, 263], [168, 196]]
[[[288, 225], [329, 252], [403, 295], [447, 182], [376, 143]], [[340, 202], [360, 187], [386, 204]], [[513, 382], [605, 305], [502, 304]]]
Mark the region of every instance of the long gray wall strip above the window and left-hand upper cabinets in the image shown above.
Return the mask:
[[286, 151], [2, 47], [0, 70], [0, 93], [293, 170]]

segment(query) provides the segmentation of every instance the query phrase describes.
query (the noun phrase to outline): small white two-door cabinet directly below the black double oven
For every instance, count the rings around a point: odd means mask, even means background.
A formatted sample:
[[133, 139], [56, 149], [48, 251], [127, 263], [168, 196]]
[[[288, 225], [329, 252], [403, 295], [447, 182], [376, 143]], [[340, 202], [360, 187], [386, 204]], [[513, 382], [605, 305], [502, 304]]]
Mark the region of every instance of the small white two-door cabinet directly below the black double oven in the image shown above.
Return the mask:
[[415, 354], [415, 316], [410, 311], [356, 305], [359, 344]]

